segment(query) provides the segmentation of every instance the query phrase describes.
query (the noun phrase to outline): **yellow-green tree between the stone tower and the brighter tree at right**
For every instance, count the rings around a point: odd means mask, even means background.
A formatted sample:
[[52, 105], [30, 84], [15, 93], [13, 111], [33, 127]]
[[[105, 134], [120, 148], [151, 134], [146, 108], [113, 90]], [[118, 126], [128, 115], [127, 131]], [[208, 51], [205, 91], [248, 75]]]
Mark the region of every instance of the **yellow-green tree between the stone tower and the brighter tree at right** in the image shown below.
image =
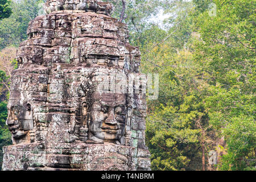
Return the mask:
[[[152, 169], [201, 169], [200, 152], [207, 147], [203, 144], [213, 143], [203, 103], [208, 84], [201, 79], [192, 52], [185, 48], [177, 52], [171, 39], [143, 56], [146, 72], [158, 72], [160, 77], [159, 98], [148, 101], [146, 139]], [[148, 60], [158, 66], [150, 67]]]

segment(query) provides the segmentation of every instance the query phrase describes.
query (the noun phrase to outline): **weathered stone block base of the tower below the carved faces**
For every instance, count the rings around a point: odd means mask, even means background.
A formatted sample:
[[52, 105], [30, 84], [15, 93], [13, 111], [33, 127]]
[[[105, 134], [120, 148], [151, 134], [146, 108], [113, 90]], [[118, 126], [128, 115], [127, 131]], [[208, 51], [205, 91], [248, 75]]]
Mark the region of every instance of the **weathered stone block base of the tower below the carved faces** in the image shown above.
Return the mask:
[[57, 152], [38, 143], [5, 147], [4, 160], [9, 163], [5, 162], [2, 167], [3, 170], [31, 171], [134, 171], [150, 166], [147, 150], [136, 151], [134, 147], [113, 144], [75, 143], [71, 147]]

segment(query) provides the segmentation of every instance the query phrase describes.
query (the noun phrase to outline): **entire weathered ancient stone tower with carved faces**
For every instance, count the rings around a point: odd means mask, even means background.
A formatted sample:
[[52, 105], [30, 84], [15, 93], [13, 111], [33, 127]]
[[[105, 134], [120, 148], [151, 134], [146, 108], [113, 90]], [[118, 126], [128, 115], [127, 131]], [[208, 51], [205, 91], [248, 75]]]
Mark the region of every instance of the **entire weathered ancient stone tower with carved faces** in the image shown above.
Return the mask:
[[2, 169], [150, 170], [145, 79], [127, 26], [98, 0], [44, 9], [16, 55]]

